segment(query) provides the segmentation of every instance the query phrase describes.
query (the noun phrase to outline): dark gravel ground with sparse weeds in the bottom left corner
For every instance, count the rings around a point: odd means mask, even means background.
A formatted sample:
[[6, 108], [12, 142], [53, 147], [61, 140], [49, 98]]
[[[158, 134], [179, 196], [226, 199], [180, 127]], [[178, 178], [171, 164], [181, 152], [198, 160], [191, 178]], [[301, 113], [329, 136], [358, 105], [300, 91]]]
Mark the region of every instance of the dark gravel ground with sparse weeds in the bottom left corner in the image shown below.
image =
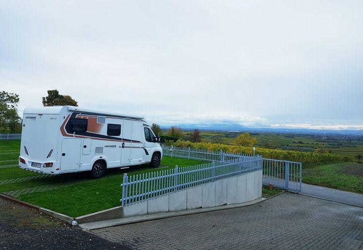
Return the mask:
[[0, 199], [0, 250], [130, 249], [52, 216]]

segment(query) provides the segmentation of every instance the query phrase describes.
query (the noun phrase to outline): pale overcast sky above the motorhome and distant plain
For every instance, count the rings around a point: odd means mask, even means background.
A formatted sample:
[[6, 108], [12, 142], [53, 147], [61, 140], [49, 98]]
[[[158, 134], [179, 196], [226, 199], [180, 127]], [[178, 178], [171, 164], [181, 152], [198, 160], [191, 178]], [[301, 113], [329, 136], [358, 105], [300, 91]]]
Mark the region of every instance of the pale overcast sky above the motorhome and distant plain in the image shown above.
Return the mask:
[[160, 125], [363, 129], [362, 0], [0, 1], [0, 91]]

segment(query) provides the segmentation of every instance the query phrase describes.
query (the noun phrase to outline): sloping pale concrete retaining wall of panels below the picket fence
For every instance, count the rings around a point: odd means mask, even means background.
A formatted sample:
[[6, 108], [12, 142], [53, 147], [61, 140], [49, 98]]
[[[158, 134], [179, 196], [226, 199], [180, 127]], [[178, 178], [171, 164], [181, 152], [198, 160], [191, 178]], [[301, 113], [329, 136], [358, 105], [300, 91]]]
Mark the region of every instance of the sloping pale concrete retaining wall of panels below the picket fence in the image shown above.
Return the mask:
[[122, 217], [239, 204], [261, 196], [262, 171], [256, 171], [125, 206]]

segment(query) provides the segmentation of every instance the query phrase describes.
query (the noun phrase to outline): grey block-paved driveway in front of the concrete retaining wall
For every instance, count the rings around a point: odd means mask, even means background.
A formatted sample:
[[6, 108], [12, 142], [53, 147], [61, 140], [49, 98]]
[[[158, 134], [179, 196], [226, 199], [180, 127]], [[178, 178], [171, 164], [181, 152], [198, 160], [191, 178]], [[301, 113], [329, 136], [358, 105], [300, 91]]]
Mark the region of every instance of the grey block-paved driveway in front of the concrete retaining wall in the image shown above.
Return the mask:
[[94, 232], [134, 249], [362, 249], [363, 208], [284, 193], [258, 205]]

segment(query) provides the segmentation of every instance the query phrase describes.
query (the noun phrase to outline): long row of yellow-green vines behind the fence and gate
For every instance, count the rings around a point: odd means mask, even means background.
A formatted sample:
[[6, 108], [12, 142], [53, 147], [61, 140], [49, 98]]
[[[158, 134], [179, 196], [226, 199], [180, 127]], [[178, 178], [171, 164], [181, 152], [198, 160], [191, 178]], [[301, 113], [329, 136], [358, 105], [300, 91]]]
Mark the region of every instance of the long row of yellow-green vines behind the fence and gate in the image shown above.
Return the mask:
[[[223, 150], [226, 153], [232, 154], [253, 154], [252, 147], [243, 147], [235, 145], [225, 145], [210, 142], [190, 142], [178, 140], [174, 143], [176, 147], [191, 147], [197, 149], [208, 149], [208, 150]], [[299, 152], [292, 150], [281, 150], [281, 149], [267, 149], [267, 148], [256, 148], [256, 154], [261, 155], [263, 158], [270, 159], [281, 159], [290, 161], [299, 161], [304, 164], [318, 164], [325, 162], [338, 162], [342, 161], [341, 156], [331, 155], [329, 153], [315, 153], [315, 152]]]

